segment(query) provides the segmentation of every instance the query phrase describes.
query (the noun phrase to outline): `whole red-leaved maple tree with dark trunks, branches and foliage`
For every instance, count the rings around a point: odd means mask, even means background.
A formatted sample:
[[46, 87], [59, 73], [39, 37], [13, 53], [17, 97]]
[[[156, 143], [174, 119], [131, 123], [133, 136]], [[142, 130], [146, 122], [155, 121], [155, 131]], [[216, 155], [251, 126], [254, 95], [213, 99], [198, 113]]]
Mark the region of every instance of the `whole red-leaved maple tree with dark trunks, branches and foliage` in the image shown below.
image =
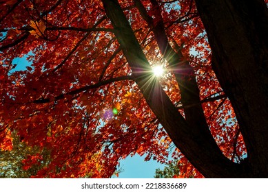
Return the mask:
[[267, 177], [266, 3], [1, 1], [1, 150], [14, 132], [49, 150], [32, 177], [107, 178], [170, 150], [179, 177]]

